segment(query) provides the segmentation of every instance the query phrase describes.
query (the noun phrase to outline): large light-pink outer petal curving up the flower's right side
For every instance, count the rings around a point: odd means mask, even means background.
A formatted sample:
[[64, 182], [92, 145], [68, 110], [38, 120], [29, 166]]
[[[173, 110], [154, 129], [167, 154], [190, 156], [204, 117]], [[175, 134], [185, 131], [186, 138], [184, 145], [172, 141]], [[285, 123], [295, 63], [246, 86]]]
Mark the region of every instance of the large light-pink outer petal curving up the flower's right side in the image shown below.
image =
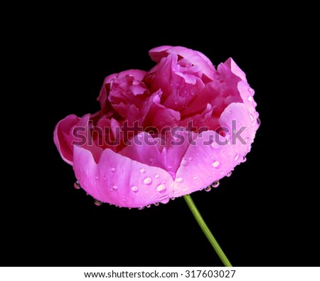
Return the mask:
[[[232, 103], [225, 109], [219, 122], [229, 133], [225, 137], [214, 131], [199, 134], [196, 144], [188, 148], [183, 158], [184, 165], [181, 162], [176, 173], [175, 196], [204, 189], [213, 181], [218, 181], [243, 161], [245, 154], [250, 151], [257, 122], [251, 120], [246, 105]], [[234, 123], [237, 128], [233, 127]], [[241, 127], [245, 127], [240, 134], [244, 143], [232, 136]], [[180, 179], [180, 182], [177, 182], [177, 179]]]

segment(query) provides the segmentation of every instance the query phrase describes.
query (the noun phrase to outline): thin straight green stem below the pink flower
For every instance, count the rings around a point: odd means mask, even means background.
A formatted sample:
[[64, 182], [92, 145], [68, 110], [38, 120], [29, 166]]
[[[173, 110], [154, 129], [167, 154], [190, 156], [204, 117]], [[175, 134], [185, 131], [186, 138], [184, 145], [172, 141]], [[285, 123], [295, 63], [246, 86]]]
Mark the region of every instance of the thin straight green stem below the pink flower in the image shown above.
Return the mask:
[[198, 225], [201, 227], [203, 233], [208, 238], [210, 244], [213, 246], [213, 249], [215, 249], [215, 253], [218, 254], [220, 260], [223, 262], [223, 265], [225, 266], [233, 266], [231, 265], [230, 261], [228, 260], [225, 253], [223, 253], [223, 250], [220, 248], [220, 245], [218, 244], [217, 240], [215, 240], [213, 234], [211, 233], [210, 229], [206, 225], [205, 221], [203, 221], [203, 218], [201, 214], [198, 211], [198, 208], [196, 207], [196, 204], [193, 202], [190, 195], [183, 196], [184, 200], [186, 200], [186, 203], [188, 204], [188, 207], [190, 208], [191, 212], [193, 213], [193, 216], [196, 218], [196, 221], [198, 222]]

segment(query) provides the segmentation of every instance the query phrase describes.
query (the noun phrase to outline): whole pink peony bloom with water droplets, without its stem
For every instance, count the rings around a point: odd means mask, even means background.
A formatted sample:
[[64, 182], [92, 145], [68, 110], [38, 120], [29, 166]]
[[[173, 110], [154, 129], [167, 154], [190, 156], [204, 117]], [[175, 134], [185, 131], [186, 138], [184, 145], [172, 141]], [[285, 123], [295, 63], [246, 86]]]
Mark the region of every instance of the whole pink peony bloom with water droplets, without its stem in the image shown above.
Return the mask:
[[259, 127], [254, 90], [232, 58], [215, 69], [188, 48], [149, 54], [148, 73], [105, 78], [100, 112], [55, 127], [61, 157], [98, 201], [142, 208], [205, 189], [245, 161]]

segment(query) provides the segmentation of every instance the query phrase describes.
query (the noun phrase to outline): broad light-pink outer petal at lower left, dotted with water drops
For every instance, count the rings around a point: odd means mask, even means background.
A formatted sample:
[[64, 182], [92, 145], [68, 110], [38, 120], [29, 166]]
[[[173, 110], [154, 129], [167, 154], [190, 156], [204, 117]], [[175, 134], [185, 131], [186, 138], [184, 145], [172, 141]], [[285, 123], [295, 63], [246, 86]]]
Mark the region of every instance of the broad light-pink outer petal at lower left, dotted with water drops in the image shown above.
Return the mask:
[[73, 169], [87, 193], [116, 206], [167, 203], [174, 195], [174, 181], [164, 169], [133, 161], [111, 149], [105, 149], [96, 163], [89, 150], [75, 147]]

